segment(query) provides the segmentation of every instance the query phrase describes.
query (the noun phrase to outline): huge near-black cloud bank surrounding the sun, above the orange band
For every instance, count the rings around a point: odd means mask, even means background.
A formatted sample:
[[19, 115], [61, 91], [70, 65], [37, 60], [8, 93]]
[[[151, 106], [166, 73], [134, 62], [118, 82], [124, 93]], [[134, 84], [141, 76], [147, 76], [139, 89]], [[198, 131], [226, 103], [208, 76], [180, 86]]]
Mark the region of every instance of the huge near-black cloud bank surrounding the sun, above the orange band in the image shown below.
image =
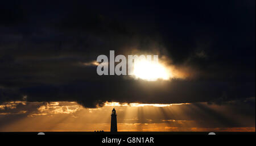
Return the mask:
[[[251, 2], [251, 1], [250, 1]], [[0, 101], [225, 102], [255, 97], [255, 5], [226, 2], [19, 2], [1, 5]], [[255, 2], [253, 2], [255, 4]], [[145, 82], [81, 62], [132, 49], [193, 72]]]

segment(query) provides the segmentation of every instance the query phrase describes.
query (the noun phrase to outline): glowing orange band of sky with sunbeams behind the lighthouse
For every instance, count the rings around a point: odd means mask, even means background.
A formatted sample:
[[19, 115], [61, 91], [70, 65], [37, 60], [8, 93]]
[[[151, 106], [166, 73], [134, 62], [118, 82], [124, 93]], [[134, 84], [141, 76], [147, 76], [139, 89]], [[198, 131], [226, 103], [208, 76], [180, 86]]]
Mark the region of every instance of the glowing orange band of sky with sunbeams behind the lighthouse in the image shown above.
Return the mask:
[[[197, 103], [229, 118], [226, 107]], [[28, 108], [29, 107], [29, 108]], [[118, 131], [254, 131], [255, 127], [205, 128], [201, 120], [204, 110], [193, 103], [146, 104], [106, 102], [95, 109], [84, 108], [76, 102], [5, 102], [0, 105], [0, 118], [18, 116], [0, 125], [0, 131], [110, 131], [110, 114], [117, 110]], [[203, 119], [191, 118], [203, 114]], [[200, 117], [200, 116], [199, 116]], [[209, 115], [211, 117], [211, 115]], [[248, 122], [250, 119], [246, 119]], [[1, 121], [1, 122], [2, 122]], [[237, 122], [240, 122], [236, 120]], [[217, 120], [214, 122], [218, 122]], [[243, 121], [241, 121], [243, 122]], [[252, 122], [253, 123], [253, 122]]]

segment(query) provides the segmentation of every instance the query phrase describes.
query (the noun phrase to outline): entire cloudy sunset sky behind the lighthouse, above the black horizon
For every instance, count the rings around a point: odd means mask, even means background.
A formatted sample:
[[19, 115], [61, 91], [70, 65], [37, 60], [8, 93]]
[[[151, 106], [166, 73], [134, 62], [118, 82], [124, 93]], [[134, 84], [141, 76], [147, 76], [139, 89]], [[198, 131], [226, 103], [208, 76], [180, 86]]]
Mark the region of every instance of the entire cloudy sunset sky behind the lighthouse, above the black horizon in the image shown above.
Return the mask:
[[[0, 18], [0, 131], [109, 131], [113, 107], [118, 131], [255, 131], [255, 1], [6, 1]], [[98, 76], [110, 50], [171, 75]]]

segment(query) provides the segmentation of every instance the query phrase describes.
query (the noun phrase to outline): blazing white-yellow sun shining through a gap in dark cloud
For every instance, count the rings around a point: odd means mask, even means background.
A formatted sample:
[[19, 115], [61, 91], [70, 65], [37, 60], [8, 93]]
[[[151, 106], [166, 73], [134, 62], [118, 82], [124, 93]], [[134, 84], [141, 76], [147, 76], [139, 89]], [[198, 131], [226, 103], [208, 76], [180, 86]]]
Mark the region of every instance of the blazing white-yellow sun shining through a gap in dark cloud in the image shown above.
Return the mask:
[[169, 80], [171, 72], [163, 64], [148, 60], [138, 60], [134, 62], [133, 75], [146, 81], [156, 81], [158, 79]]

